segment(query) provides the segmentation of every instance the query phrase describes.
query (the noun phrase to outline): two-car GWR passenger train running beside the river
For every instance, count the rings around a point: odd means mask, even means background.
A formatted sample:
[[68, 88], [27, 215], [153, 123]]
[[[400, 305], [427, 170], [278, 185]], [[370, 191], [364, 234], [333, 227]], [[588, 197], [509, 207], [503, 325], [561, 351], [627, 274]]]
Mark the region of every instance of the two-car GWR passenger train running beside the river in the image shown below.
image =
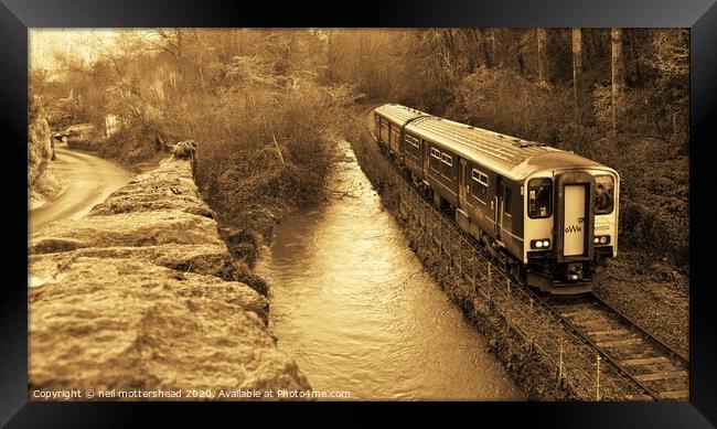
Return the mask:
[[397, 104], [368, 120], [381, 150], [516, 279], [550, 294], [606, 279], [618, 256], [614, 169]]

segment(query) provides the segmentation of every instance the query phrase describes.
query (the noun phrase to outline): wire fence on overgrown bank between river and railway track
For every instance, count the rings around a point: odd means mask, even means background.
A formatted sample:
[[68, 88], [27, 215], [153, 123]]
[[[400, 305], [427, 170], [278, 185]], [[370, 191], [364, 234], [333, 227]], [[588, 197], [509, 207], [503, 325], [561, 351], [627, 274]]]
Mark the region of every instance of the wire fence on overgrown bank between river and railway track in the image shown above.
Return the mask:
[[[475, 315], [491, 312], [528, 350], [534, 351], [554, 379], [580, 400], [650, 400], [643, 390], [586, 343], [526, 287], [514, 282], [491, 256], [458, 225], [438, 212], [397, 173], [393, 173], [402, 218], [416, 226], [416, 253], [434, 256], [448, 294], [470, 302]], [[548, 378], [552, 376], [548, 375]]]

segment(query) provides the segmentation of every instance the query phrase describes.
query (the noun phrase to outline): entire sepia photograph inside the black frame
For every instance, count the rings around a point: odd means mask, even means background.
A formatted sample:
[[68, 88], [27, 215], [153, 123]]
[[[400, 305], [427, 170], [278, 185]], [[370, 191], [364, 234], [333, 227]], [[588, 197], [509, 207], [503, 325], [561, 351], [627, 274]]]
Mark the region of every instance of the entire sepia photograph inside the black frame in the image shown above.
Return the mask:
[[688, 401], [689, 35], [29, 29], [28, 399]]

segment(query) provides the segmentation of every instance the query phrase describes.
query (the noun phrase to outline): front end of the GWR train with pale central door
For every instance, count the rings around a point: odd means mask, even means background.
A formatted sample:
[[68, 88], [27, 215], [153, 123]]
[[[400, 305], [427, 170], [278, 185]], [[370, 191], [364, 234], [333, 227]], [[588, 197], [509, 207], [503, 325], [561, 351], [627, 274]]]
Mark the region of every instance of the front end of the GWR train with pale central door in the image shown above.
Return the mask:
[[618, 255], [620, 176], [568, 152], [539, 158], [524, 182], [528, 285], [552, 293], [590, 291]]

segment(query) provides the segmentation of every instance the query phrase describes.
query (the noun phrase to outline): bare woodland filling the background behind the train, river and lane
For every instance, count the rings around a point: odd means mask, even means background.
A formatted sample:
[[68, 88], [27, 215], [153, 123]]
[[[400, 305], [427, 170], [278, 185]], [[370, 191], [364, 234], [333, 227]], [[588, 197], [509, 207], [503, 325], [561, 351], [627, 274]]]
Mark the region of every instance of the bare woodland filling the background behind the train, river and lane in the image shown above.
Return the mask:
[[[31, 47], [43, 46], [33, 32]], [[197, 183], [250, 264], [276, 219], [321, 196], [334, 138], [364, 138], [368, 108], [399, 103], [614, 168], [621, 246], [688, 272], [687, 30], [84, 34], [45, 46], [44, 61], [31, 49], [31, 192], [50, 162], [49, 129], [115, 115], [118, 133], [79, 149], [128, 167], [193, 139]]]

